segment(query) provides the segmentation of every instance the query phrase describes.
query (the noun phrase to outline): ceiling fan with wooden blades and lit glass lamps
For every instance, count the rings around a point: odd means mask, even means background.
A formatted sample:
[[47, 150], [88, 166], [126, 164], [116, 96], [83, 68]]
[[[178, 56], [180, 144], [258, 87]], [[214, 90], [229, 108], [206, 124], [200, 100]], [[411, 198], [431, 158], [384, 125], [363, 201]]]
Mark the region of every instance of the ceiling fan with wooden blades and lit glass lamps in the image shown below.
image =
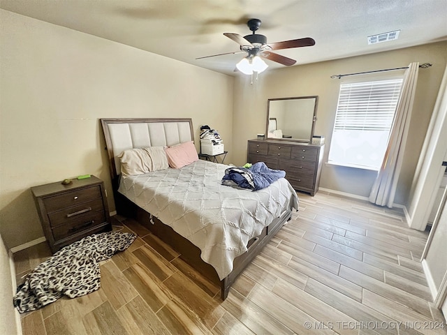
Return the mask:
[[[224, 54], [248, 53], [247, 57], [236, 64], [236, 68], [247, 75], [251, 75], [253, 72], [261, 73], [268, 67], [261, 58], [270, 59], [270, 61], [276, 61], [285, 66], [291, 66], [296, 63], [295, 59], [276, 54], [272, 52], [272, 50], [290, 49], [293, 47], [310, 47], [315, 45], [315, 40], [310, 37], [267, 44], [267, 38], [264, 35], [255, 34], [255, 31], [261, 27], [261, 20], [251, 19], [247, 22], [247, 26], [253, 34], [242, 37], [239, 34], [223, 33], [223, 35], [238, 43], [241, 50], [237, 52], [226, 52]], [[198, 57], [196, 59], [221, 55], [223, 54], [213, 54], [212, 56]]]

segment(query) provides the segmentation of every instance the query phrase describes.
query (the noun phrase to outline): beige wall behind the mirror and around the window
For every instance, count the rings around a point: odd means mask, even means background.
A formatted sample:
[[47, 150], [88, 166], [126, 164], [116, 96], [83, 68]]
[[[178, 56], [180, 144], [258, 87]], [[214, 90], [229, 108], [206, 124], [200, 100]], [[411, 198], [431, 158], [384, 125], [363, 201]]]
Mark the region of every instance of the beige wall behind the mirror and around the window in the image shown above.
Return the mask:
[[[331, 79], [331, 75], [403, 67], [413, 61], [419, 61], [421, 64], [429, 62], [433, 64], [431, 68], [419, 71], [404, 167], [395, 198], [397, 204], [406, 204], [420, 148], [446, 66], [446, 48], [447, 42], [442, 42], [362, 57], [266, 70], [253, 84], [250, 84], [249, 76], [237, 77], [233, 141], [242, 149], [235, 152], [235, 163], [244, 164], [247, 160], [247, 140], [255, 138], [257, 133], [265, 133], [268, 98], [318, 96], [315, 134], [325, 135], [324, 160], [327, 162], [339, 91], [339, 80]], [[374, 171], [323, 165], [320, 187], [367, 197], [375, 178]]]

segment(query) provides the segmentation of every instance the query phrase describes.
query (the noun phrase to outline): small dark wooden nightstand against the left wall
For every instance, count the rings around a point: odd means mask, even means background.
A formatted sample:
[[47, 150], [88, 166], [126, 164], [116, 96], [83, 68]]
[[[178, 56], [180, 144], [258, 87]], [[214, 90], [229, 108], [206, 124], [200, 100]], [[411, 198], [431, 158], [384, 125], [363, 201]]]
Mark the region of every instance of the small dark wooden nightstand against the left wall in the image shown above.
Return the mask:
[[31, 187], [43, 232], [55, 253], [89, 234], [111, 230], [104, 183], [91, 176]]

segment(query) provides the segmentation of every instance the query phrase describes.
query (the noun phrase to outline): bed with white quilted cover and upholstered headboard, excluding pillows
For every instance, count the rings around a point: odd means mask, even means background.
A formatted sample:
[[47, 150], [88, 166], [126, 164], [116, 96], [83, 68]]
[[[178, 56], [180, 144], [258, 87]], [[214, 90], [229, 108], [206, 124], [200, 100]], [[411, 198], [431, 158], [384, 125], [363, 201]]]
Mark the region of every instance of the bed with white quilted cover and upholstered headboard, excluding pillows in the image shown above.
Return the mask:
[[101, 119], [101, 125], [117, 213], [135, 218], [219, 284], [221, 299], [298, 210], [298, 197], [286, 179], [255, 192], [224, 186], [228, 165], [210, 161], [121, 175], [124, 151], [193, 145], [191, 119]]

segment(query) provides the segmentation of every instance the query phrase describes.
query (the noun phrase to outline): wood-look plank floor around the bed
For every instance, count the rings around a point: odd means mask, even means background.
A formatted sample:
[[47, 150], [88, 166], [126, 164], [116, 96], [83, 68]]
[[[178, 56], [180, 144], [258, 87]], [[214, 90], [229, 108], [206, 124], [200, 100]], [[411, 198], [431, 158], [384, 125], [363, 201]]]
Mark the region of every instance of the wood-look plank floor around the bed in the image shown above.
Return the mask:
[[[22, 315], [23, 334], [447, 334], [402, 211], [299, 193], [293, 214], [228, 299], [135, 221], [138, 239], [101, 265], [101, 289]], [[50, 255], [15, 254], [17, 281]], [[400, 323], [402, 322], [402, 323]], [[399, 329], [400, 328], [400, 329]]]

